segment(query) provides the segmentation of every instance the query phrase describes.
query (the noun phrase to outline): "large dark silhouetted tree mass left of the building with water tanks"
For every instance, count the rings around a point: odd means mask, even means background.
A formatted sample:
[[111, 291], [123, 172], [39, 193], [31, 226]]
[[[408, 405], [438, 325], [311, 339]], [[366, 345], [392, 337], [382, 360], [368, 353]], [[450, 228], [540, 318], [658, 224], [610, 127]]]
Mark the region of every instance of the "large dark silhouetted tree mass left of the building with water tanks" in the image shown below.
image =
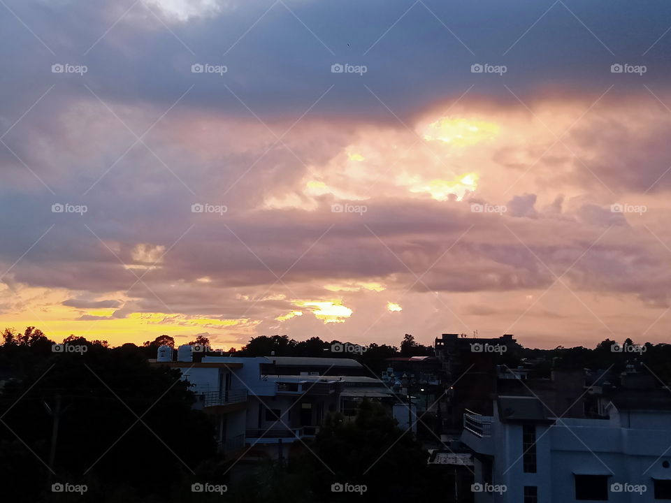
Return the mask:
[[81, 500], [87, 502], [192, 501], [173, 496], [187, 482], [185, 465], [198, 472], [216, 447], [210, 418], [192, 409], [189, 384], [179, 370], [151, 367], [134, 344], [108, 349], [76, 337], [70, 343], [82, 342], [89, 348], [83, 353], [0, 348], [0, 361], [17, 350], [34, 353], [26, 376], [9, 381], [0, 396], [3, 410], [13, 404], [3, 417], [8, 428], [0, 428], [2, 476], [13, 480], [3, 487], [3, 500], [52, 501], [43, 492], [48, 470], [39, 460], [50, 458], [48, 409], [61, 402], [53, 482], [86, 483]]

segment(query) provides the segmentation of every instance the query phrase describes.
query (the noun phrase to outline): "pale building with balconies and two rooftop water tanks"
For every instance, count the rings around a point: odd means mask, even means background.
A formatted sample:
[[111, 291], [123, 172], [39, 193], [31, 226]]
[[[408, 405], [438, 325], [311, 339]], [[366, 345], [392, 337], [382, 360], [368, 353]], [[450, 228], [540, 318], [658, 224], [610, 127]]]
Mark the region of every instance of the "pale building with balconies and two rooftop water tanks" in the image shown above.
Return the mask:
[[168, 356], [164, 350], [161, 358], [159, 349], [152, 364], [182, 371], [196, 394], [195, 407], [215, 416], [224, 455], [253, 447], [254, 455], [282, 457], [283, 446], [314, 438], [329, 412], [352, 418], [368, 398], [391, 415], [397, 401], [380, 379], [363, 375], [361, 364], [350, 358], [203, 356], [194, 362], [184, 346], [178, 361], [171, 358], [172, 351]]

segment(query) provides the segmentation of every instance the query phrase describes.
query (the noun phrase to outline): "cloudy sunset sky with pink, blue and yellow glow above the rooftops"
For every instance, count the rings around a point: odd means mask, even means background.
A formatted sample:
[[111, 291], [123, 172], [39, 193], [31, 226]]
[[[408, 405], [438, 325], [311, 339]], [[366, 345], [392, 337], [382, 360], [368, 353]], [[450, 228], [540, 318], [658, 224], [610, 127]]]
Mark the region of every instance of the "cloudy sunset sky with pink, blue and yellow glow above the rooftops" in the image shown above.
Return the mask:
[[0, 1], [0, 326], [669, 342], [670, 20]]

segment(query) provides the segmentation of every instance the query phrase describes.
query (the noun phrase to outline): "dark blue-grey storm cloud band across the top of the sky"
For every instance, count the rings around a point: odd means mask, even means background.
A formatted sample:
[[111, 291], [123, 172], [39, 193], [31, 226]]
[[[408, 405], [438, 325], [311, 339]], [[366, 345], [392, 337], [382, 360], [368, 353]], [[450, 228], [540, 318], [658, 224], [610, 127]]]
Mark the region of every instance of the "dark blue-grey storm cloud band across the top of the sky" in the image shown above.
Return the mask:
[[[55, 94], [68, 101], [88, 95], [85, 82], [110, 101], [141, 99], [167, 108], [195, 85], [186, 104], [247, 115], [226, 85], [271, 117], [300, 115], [335, 85], [317, 111], [391, 119], [364, 84], [407, 115], [471, 85], [475, 95], [514, 103], [503, 84], [521, 96], [549, 88], [600, 93], [612, 84], [624, 91], [639, 89], [641, 78], [614, 75], [612, 64], [646, 65], [648, 85], [664, 87], [671, 69], [665, 57], [671, 36], [657, 41], [671, 18], [665, 1], [426, 1], [412, 8], [412, 2], [287, 2], [293, 13], [281, 3], [268, 10], [270, 1], [222, 2], [219, 15], [188, 22], [175, 22], [147, 2], [169, 30], [142, 2], [132, 5], [8, 1], [44, 45], [13, 15], [1, 17], [3, 101], [24, 110], [53, 82]], [[53, 75], [57, 62], [89, 70], [83, 78]], [[229, 71], [192, 74], [198, 62]], [[363, 64], [368, 71], [333, 74], [334, 63]], [[507, 72], [471, 73], [472, 64], [505, 65]]]

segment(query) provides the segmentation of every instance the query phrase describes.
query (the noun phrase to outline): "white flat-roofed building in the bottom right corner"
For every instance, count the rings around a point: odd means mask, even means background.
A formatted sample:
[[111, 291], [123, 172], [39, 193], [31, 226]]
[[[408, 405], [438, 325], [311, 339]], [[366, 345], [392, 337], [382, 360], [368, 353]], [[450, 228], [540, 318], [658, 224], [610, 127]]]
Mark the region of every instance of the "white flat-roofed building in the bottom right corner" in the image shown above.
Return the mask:
[[671, 394], [602, 398], [609, 418], [555, 418], [535, 397], [499, 396], [464, 414], [475, 503], [671, 500]]

